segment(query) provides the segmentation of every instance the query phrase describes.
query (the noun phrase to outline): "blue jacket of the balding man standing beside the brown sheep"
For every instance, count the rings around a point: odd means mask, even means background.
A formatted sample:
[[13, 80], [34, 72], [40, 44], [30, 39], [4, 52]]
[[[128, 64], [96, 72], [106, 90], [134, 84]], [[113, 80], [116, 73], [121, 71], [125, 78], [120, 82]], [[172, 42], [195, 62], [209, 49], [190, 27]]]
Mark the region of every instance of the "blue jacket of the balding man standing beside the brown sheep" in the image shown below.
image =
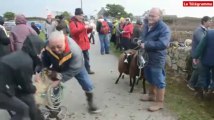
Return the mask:
[[163, 68], [166, 62], [171, 31], [162, 20], [158, 21], [150, 30], [148, 21], [144, 23], [142, 42], [149, 57], [148, 65]]

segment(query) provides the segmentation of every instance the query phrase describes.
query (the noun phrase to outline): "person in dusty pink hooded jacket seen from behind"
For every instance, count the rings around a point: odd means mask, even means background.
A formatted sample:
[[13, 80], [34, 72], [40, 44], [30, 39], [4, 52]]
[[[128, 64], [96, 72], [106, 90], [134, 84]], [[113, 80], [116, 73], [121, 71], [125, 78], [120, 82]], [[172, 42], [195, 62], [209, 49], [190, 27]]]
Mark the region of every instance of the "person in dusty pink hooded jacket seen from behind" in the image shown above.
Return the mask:
[[14, 26], [10, 32], [11, 51], [21, 50], [28, 35], [37, 35], [36, 31], [27, 25], [27, 20], [24, 15], [17, 15], [15, 23], [16, 26]]

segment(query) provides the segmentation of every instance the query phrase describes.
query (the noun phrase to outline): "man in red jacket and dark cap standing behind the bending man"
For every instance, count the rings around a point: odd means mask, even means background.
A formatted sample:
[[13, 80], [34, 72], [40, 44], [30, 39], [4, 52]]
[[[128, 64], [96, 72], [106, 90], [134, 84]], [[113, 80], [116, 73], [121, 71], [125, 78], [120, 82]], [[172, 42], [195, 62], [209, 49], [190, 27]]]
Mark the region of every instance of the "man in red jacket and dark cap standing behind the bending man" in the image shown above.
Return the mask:
[[76, 8], [75, 16], [71, 18], [69, 27], [72, 38], [82, 49], [85, 60], [85, 68], [88, 71], [88, 74], [94, 74], [94, 72], [90, 69], [88, 52], [90, 49], [88, 33], [92, 32], [92, 26], [85, 25], [84, 15], [81, 8]]

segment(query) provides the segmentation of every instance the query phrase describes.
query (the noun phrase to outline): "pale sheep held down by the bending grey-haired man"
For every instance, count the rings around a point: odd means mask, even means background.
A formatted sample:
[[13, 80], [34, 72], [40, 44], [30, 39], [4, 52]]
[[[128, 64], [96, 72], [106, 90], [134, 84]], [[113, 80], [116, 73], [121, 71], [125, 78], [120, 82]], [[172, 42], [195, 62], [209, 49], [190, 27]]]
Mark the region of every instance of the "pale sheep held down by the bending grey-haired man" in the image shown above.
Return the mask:
[[67, 107], [62, 106], [63, 86], [61, 83], [57, 87], [52, 87], [53, 79], [60, 80], [61, 74], [43, 69], [40, 73], [33, 76], [32, 81], [37, 88], [35, 102], [41, 109], [41, 115], [45, 119], [56, 117], [64, 119], [67, 117]]

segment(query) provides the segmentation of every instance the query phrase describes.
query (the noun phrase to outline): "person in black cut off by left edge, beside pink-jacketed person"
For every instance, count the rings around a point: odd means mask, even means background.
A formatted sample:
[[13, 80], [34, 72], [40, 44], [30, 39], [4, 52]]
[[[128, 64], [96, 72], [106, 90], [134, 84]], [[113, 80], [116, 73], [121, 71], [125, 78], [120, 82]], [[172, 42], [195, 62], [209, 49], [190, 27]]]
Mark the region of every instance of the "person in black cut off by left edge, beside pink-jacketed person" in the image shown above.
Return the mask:
[[8, 44], [10, 44], [9, 36], [8, 36], [3, 24], [4, 24], [4, 18], [2, 16], [0, 16], [0, 57], [9, 53]]

